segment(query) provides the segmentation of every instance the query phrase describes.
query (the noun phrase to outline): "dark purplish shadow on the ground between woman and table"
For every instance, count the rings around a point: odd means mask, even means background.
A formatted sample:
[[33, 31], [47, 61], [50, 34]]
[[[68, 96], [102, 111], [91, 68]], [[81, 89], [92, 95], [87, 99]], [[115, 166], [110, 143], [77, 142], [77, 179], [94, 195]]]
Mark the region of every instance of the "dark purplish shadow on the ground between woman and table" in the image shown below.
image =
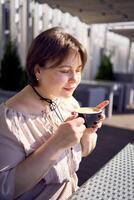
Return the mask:
[[79, 186], [94, 175], [125, 145], [134, 143], [134, 131], [103, 125], [98, 131], [98, 141], [95, 150], [83, 158], [77, 172]]

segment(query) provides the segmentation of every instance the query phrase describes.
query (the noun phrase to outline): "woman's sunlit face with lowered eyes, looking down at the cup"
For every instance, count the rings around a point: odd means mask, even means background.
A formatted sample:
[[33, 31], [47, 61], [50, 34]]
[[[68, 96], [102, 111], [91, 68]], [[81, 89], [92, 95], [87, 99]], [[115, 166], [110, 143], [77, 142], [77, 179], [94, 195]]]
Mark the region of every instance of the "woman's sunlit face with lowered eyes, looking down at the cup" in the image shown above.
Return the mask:
[[54, 68], [39, 68], [36, 77], [39, 79], [39, 90], [48, 98], [70, 97], [81, 81], [82, 62], [79, 53], [71, 50], [69, 55]]

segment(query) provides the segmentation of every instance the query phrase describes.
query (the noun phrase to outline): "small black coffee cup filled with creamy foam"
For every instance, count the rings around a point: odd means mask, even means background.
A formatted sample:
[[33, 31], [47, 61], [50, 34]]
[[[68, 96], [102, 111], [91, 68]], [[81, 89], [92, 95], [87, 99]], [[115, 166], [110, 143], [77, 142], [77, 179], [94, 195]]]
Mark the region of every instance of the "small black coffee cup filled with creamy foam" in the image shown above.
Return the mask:
[[102, 110], [96, 107], [80, 107], [76, 110], [76, 112], [79, 117], [84, 118], [85, 126], [89, 128], [94, 125], [94, 122], [99, 120], [99, 113], [101, 113]]

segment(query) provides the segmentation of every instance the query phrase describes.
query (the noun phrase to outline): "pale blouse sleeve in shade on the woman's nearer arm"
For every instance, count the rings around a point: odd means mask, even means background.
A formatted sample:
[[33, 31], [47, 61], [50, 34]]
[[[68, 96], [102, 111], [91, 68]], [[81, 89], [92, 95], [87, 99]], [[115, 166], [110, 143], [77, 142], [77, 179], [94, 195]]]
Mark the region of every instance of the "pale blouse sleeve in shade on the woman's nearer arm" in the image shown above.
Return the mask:
[[5, 113], [0, 106], [0, 199], [12, 200], [15, 189], [15, 167], [25, 154], [18, 139], [7, 126]]

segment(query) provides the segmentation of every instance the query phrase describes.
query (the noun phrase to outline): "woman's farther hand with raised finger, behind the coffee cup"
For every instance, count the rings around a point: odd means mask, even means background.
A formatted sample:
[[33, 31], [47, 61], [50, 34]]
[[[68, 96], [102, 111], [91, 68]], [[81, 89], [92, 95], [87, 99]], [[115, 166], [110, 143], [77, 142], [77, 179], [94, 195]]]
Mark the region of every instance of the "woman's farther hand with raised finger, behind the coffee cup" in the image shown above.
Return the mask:
[[[109, 104], [109, 101], [103, 101], [98, 104], [96, 108], [103, 109]], [[97, 142], [96, 131], [102, 126], [103, 121], [105, 120], [105, 115], [103, 113], [99, 114], [99, 120], [94, 122], [94, 125], [91, 128], [86, 128], [84, 134], [81, 138], [82, 145], [82, 155], [83, 157], [89, 155], [95, 148]]]

